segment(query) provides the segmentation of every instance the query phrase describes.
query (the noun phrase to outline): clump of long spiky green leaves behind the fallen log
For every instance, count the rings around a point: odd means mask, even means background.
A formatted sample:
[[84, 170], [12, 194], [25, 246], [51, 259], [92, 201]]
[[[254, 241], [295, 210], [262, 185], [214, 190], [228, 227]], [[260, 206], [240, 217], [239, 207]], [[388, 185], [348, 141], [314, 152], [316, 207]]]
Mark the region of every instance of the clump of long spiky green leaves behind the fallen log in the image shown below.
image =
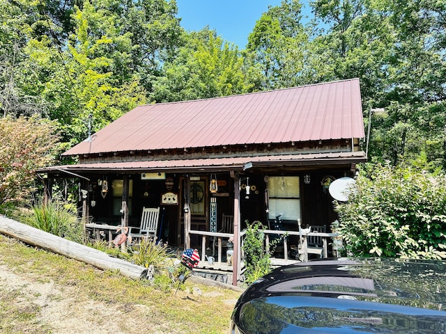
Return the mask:
[[84, 240], [82, 224], [77, 215], [59, 200], [45, 202], [39, 199], [31, 209], [17, 210], [13, 216], [17, 221], [58, 237], [79, 243]]

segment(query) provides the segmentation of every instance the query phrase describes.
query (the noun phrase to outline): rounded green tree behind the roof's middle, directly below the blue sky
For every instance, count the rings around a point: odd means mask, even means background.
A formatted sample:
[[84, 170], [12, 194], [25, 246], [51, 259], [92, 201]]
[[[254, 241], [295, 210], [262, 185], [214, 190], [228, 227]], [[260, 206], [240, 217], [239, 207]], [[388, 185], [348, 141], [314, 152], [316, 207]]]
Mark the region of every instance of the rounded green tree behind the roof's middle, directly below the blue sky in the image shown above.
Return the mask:
[[245, 93], [243, 58], [237, 47], [208, 28], [185, 33], [183, 47], [164, 63], [153, 84], [152, 100], [171, 102]]

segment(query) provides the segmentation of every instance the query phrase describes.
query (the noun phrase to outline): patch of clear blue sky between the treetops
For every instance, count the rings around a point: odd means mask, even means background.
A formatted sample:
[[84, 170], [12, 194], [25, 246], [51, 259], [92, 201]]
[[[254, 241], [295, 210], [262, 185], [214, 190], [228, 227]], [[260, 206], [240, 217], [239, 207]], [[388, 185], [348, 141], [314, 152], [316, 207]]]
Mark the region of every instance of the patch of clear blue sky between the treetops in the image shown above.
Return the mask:
[[199, 31], [209, 26], [238, 49], [245, 49], [249, 33], [268, 5], [280, 3], [281, 0], [176, 0], [184, 29]]

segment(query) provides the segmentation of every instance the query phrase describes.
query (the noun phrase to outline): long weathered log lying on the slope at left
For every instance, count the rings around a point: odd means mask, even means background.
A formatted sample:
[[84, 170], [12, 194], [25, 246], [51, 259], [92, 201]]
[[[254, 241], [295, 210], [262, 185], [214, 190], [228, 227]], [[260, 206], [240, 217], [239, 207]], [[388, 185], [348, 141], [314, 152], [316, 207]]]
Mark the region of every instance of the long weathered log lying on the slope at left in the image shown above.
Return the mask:
[[0, 233], [24, 241], [26, 244], [38, 246], [74, 260], [91, 264], [99, 269], [118, 270], [124, 276], [130, 278], [145, 278], [147, 273], [146, 268], [137, 264], [132, 264], [117, 257], [111, 257], [100, 250], [57, 237], [54, 234], [33, 228], [5, 216], [0, 216]]

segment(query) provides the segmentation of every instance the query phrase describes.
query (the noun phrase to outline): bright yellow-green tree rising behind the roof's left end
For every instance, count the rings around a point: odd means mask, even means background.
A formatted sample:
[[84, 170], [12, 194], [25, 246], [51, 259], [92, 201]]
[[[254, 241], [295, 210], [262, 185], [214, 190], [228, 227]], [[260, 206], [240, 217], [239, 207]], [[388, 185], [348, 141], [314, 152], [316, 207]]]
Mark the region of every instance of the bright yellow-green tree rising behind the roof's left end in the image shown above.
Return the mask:
[[86, 138], [90, 115], [95, 132], [146, 101], [139, 76], [129, 70], [130, 33], [119, 29], [119, 17], [102, 4], [84, 1], [82, 10], [75, 8], [65, 50], [49, 38], [31, 39], [26, 47], [37, 64], [28, 70], [52, 105], [49, 116], [59, 120], [64, 141], [72, 144]]

